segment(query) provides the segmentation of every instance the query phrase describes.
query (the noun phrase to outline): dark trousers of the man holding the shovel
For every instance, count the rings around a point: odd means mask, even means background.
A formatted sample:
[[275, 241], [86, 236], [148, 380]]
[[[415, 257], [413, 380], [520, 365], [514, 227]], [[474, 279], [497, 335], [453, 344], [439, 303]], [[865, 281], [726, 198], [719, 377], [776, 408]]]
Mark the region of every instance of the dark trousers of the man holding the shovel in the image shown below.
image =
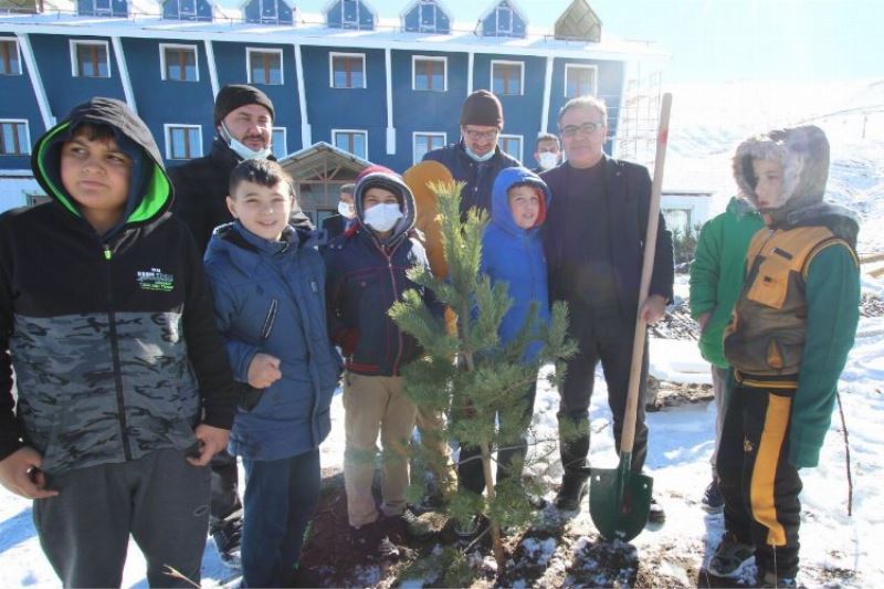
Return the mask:
[[[594, 311], [580, 303], [569, 303], [569, 336], [579, 351], [567, 362], [567, 372], [559, 390], [559, 451], [565, 475], [586, 477], [589, 454], [589, 402], [596, 383], [596, 364], [601, 361], [608, 385], [608, 407], [614, 428], [614, 444], [620, 452], [623, 413], [627, 409], [629, 372], [635, 319], [625, 320], [617, 308]], [[648, 338], [642, 355], [639, 406], [635, 412], [635, 441], [632, 446], [632, 471], [640, 472], [648, 457], [648, 425], [644, 424], [644, 393], [648, 379]], [[567, 421], [567, 423], [562, 423]], [[566, 432], [568, 432], [566, 434]]]

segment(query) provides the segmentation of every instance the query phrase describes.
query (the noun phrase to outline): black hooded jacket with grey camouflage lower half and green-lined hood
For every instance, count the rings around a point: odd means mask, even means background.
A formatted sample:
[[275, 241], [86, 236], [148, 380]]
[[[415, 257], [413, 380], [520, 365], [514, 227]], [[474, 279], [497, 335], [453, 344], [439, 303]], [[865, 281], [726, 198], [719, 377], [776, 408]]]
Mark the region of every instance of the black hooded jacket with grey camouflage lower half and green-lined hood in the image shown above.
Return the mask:
[[[83, 123], [110, 127], [143, 169], [104, 235], [59, 180], [61, 148]], [[200, 421], [229, 429], [233, 380], [211, 293], [190, 232], [168, 212], [145, 124], [93, 98], [38, 139], [32, 168], [51, 202], [0, 215], [0, 457], [31, 445], [60, 473], [192, 450]]]

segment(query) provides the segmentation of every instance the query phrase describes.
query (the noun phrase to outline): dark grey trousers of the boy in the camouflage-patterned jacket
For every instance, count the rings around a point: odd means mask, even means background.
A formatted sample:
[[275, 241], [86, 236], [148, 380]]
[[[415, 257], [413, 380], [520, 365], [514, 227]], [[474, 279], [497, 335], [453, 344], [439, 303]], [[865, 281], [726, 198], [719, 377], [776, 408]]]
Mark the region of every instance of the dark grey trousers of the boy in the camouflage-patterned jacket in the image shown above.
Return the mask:
[[145, 555], [150, 587], [200, 582], [209, 524], [209, 469], [178, 450], [53, 475], [59, 495], [34, 501], [34, 526], [65, 587], [119, 587], [129, 535]]

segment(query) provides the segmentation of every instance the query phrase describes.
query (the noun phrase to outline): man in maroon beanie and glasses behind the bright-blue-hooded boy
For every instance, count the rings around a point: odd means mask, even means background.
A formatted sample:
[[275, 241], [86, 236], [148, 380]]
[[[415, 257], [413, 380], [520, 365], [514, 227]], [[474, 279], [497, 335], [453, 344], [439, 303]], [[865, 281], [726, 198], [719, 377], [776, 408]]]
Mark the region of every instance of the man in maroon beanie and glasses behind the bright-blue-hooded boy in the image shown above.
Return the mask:
[[497, 172], [522, 166], [497, 146], [504, 128], [504, 113], [497, 96], [477, 90], [461, 107], [461, 140], [428, 151], [423, 160], [439, 161], [454, 179], [466, 182], [461, 192], [461, 214], [473, 207], [491, 210], [491, 187]]

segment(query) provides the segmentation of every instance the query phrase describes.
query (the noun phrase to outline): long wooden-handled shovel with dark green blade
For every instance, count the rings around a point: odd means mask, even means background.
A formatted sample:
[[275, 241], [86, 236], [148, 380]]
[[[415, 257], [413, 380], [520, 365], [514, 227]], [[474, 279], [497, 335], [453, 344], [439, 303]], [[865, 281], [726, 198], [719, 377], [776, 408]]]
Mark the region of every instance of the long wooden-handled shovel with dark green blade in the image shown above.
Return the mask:
[[642, 355], [644, 354], [645, 320], [641, 316], [648, 291], [656, 248], [657, 218], [660, 215], [660, 192], [663, 186], [663, 164], [666, 160], [670, 111], [672, 95], [663, 95], [660, 111], [660, 129], [656, 138], [654, 158], [654, 181], [651, 186], [651, 206], [648, 213], [648, 233], [644, 240], [644, 260], [639, 291], [639, 312], [635, 317], [635, 336], [632, 344], [632, 364], [629, 375], [629, 395], [623, 416], [623, 433], [620, 439], [620, 465], [613, 469], [592, 469], [589, 491], [589, 514], [599, 534], [606, 540], [629, 541], [638, 536], [648, 523], [651, 508], [651, 492], [654, 480], [648, 475], [632, 472], [632, 445], [635, 441], [635, 412], [639, 404]]

